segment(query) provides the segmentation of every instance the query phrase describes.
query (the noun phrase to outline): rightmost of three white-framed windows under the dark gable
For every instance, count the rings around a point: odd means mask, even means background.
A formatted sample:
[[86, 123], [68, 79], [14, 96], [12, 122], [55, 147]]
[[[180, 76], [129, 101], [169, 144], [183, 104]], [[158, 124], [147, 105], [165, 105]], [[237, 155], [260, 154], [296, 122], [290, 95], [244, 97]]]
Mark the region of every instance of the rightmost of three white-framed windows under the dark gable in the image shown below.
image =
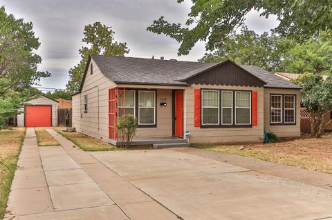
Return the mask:
[[249, 125], [251, 121], [251, 92], [235, 92], [235, 124]]

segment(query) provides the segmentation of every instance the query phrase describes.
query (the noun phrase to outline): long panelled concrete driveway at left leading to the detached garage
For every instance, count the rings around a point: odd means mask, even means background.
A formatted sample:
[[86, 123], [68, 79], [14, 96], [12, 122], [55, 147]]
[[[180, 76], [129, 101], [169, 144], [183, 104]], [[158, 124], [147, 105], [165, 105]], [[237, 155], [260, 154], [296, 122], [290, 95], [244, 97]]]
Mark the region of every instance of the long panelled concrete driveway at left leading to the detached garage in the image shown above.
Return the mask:
[[28, 128], [5, 219], [177, 219], [52, 129], [62, 146], [37, 146]]

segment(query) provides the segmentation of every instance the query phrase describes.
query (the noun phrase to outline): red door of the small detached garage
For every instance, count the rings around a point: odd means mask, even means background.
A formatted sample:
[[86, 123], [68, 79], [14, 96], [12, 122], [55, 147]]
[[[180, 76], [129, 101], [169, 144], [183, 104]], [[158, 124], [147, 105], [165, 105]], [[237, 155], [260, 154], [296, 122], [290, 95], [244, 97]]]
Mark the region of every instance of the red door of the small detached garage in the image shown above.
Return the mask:
[[26, 127], [52, 126], [51, 106], [26, 106]]

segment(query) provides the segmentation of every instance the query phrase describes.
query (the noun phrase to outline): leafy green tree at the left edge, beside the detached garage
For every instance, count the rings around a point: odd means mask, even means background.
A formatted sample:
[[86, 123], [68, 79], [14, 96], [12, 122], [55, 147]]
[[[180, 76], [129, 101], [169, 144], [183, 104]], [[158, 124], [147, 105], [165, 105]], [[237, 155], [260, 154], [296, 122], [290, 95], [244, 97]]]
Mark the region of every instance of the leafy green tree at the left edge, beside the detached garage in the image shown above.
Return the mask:
[[42, 59], [36, 54], [38, 38], [33, 24], [15, 19], [0, 8], [0, 128], [13, 117], [29, 98], [29, 88], [48, 72], [40, 72], [37, 66]]

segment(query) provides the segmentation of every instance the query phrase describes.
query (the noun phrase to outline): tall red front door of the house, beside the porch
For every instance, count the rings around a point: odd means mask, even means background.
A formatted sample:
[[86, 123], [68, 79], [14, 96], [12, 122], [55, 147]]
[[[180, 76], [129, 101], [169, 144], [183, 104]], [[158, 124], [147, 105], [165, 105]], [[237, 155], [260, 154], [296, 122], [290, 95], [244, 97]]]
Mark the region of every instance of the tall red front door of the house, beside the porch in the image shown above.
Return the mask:
[[175, 92], [175, 136], [183, 137], [183, 91]]

